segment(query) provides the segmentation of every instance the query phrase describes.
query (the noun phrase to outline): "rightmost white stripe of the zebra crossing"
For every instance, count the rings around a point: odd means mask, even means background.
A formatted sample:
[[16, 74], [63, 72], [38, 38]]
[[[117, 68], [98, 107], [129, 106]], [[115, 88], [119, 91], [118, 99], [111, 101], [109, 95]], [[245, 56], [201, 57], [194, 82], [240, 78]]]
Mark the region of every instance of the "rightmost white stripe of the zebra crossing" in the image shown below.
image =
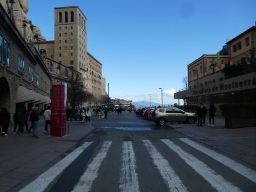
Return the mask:
[[196, 148], [200, 152], [203, 152], [207, 156], [212, 157], [212, 159], [215, 159], [216, 161], [224, 164], [228, 168], [243, 175], [247, 179], [252, 180], [252, 182], [256, 182], [256, 172], [250, 168], [247, 168], [243, 164], [237, 163], [236, 161], [234, 161], [226, 156], [223, 156], [217, 152], [214, 152], [214, 150], [206, 148], [206, 147], [196, 143], [195, 141], [191, 141], [188, 138], [180, 138], [180, 141], [183, 141], [184, 143], [190, 145], [191, 147]]

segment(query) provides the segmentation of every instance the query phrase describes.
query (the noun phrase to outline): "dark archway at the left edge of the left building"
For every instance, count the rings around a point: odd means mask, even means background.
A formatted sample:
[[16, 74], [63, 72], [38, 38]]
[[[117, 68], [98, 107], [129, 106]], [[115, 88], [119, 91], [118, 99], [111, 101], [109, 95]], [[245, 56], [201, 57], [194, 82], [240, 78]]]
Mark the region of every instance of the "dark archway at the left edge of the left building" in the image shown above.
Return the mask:
[[11, 94], [10, 86], [5, 77], [0, 78], [0, 108], [6, 108], [10, 112], [11, 109]]

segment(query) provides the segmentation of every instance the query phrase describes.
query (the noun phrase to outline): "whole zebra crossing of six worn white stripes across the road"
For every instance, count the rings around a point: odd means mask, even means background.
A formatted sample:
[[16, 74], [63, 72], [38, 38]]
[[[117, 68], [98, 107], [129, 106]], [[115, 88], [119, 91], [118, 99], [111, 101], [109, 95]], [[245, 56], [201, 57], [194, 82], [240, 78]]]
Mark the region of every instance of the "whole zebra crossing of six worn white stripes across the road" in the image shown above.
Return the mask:
[[[182, 145], [180, 145], [182, 143]], [[81, 147], [76, 148], [73, 152], [64, 157], [61, 161], [54, 164], [49, 170], [39, 175], [35, 180], [30, 182], [27, 186], [20, 189], [20, 191], [44, 191], [51, 184], [52, 180], [58, 179], [63, 170], [65, 170], [72, 162], [75, 161], [80, 154], [88, 148], [92, 142], [85, 142]], [[256, 172], [252, 168], [248, 168], [241, 163], [230, 159], [219, 152], [216, 152], [210, 148], [207, 148], [199, 143], [188, 138], [180, 138], [179, 140], [141, 140], [139, 144], [145, 148], [147, 158], [150, 159], [154, 165], [156, 172], [161, 175], [161, 179], [168, 191], [191, 191], [188, 186], [188, 182], [179, 175], [173, 167], [172, 159], [166, 158], [161, 151], [161, 148], [157, 147], [156, 144], [164, 145], [168, 151], [176, 154], [177, 157], [182, 159], [182, 163], [186, 164], [191, 170], [195, 171], [196, 174], [200, 175], [205, 182], [211, 186], [215, 191], [243, 191], [241, 184], [237, 186], [236, 183], [232, 183], [230, 179], [225, 178], [225, 174], [221, 175], [219, 172], [214, 170], [212, 166], [205, 163], [198, 157], [191, 154], [184, 145], [192, 147], [196, 151], [204, 154], [205, 156], [216, 161], [217, 163], [223, 164], [227, 169], [234, 171], [239, 177], [244, 177], [250, 182], [251, 187], [256, 188]], [[102, 141], [99, 144], [99, 152], [92, 157], [92, 161], [84, 168], [83, 175], [77, 180], [72, 191], [93, 191], [93, 182], [97, 180], [99, 176], [99, 170], [106, 161], [109, 151], [113, 148], [114, 141]], [[140, 186], [140, 173], [138, 173], [138, 162], [141, 159], [138, 158], [136, 150], [134, 150], [134, 143], [132, 141], [122, 141], [121, 155], [116, 157], [120, 161], [120, 177], [116, 180], [119, 191], [124, 192], [137, 192], [141, 191], [143, 186]], [[170, 151], [169, 151], [170, 150]], [[176, 168], [177, 170], [177, 168]], [[147, 172], [147, 170], [145, 170]], [[234, 177], [237, 177], [234, 175]], [[253, 190], [252, 190], [253, 191]]]

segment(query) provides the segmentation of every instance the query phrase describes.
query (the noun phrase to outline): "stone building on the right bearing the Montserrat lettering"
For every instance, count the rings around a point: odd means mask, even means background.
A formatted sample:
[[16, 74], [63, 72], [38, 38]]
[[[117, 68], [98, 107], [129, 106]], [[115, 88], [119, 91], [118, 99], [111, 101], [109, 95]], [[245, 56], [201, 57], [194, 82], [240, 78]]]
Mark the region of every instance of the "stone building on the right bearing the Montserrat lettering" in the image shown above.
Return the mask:
[[184, 104], [255, 102], [256, 26], [225, 45], [227, 55], [203, 55], [188, 65], [188, 90], [174, 94]]

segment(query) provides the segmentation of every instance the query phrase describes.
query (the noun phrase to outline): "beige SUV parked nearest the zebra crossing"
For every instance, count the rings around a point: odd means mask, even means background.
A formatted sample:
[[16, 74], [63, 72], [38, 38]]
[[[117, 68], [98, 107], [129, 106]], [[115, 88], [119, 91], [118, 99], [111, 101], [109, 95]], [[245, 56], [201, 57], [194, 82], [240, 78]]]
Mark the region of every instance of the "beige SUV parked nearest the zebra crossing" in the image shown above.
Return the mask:
[[188, 113], [179, 108], [157, 108], [152, 117], [157, 125], [164, 125], [166, 122], [184, 122], [194, 124], [197, 120], [195, 113]]

